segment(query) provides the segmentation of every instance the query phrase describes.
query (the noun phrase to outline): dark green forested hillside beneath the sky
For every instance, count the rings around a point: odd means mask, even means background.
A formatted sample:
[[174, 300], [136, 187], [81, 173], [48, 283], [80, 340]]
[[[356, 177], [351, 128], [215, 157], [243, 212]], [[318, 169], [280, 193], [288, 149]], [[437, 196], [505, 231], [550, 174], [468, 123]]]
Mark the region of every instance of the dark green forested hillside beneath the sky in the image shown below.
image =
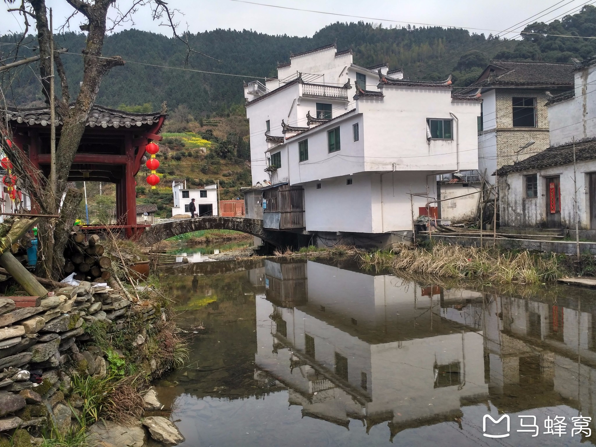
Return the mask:
[[[130, 61], [116, 67], [104, 77], [98, 103], [141, 105], [157, 108], [168, 101], [170, 110], [186, 105], [194, 117], [226, 116], [233, 105], [243, 104], [243, 80], [251, 76], [274, 76], [278, 62], [289, 60], [291, 52], [304, 51], [332, 42], [339, 50], [352, 48], [355, 63], [371, 66], [389, 62], [392, 68], [403, 67], [411, 79], [437, 80], [454, 74], [456, 85], [472, 82], [490, 58], [530, 59], [567, 62], [572, 57], [586, 58], [596, 54], [596, 39], [562, 38], [554, 35], [596, 36], [596, 7], [586, 6], [581, 13], [564, 17], [551, 24], [535, 23], [523, 41], [504, 41], [498, 37], [470, 34], [467, 30], [442, 27], [383, 27], [358, 23], [334, 23], [319, 30], [312, 38], [269, 36], [249, 30], [218, 29], [188, 35], [190, 46], [219, 61], [193, 54], [188, 68], [243, 75], [242, 77], [208, 75], [184, 70], [164, 69], [143, 64], [184, 67], [185, 47], [166, 36], [126, 30], [109, 36], [105, 55], [120, 55]], [[17, 36], [2, 36], [0, 43], [14, 42]], [[70, 52], [80, 53], [85, 36], [66, 33], [57, 42]], [[35, 46], [35, 38], [26, 41]], [[2, 60], [11, 45], [0, 45]], [[21, 49], [30, 55], [32, 50]], [[63, 56], [73, 91], [79, 85], [82, 70], [80, 55]], [[136, 62], [136, 63], [133, 63]], [[41, 104], [36, 72], [22, 67], [2, 82], [8, 101], [18, 105]], [[232, 110], [232, 114], [234, 110]]]

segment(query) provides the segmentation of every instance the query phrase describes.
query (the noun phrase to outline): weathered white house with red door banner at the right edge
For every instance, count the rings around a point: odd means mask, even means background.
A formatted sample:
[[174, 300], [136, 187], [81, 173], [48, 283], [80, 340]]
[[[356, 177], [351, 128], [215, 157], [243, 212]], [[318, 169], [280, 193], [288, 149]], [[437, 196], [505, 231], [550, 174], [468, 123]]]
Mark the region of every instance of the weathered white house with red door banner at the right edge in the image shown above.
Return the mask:
[[501, 227], [574, 234], [577, 191], [580, 237], [596, 237], [596, 58], [576, 61], [574, 75], [575, 89], [548, 95], [551, 147], [497, 171]]

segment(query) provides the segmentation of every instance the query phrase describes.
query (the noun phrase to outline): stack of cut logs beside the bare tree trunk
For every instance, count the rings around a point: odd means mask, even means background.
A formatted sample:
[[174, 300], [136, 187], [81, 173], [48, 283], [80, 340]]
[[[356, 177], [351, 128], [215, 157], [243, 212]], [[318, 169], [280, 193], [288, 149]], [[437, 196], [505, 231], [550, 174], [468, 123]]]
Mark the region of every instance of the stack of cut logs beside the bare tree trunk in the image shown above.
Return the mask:
[[100, 237], [92, 234], [85, 241], [85, 234], [79, 231], [70, 233], [69, 243], [64, 251], [64, 273], [70, 275], [75, 272], [75, 280], [105, 283], [111, 275], [107, 268], [111, 259], [104, 254], [104, 246]]

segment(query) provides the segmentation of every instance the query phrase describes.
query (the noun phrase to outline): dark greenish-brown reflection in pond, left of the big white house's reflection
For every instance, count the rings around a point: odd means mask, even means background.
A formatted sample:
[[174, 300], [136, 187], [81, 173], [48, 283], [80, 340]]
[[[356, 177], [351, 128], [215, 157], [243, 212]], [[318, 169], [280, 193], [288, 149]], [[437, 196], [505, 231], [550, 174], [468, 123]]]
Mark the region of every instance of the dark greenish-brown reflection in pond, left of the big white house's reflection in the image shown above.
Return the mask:
[[[178, 324], [191, 334], [187, 368], [166, 377], [197, 398], [262, 396], [280, 387], [254, 371], [256, 306], [247, 272], [168, 277]], [[194, 331], [203, 324], [204, 330]], [[194, 333], [197, 332], [197, 333]]]

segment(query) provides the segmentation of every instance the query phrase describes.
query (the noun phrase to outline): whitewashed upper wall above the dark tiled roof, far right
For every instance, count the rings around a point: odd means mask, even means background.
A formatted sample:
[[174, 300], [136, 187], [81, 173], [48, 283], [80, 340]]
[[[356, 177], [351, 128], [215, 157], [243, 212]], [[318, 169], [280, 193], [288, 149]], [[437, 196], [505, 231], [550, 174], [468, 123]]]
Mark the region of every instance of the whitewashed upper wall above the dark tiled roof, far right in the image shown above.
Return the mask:
[[548, 106], [552, 146], [596, 136], [596, 64], [574, 76], [575, 97]]

